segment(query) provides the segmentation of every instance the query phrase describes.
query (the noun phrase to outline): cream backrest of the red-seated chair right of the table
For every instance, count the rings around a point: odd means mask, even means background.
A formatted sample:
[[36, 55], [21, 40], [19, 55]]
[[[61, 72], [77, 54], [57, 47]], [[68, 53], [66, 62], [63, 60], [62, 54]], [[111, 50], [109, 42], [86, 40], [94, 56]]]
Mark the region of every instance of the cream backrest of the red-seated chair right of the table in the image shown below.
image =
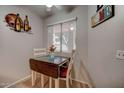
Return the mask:
[[73, 67], [73, 63], [74, 63], [74, 56], [75, 56], [75, 50], [72, 50], [70, 62], [68, 64], [66, 78], [69, 78], [71, 75], [71, 71], [72, 71], [72, 67]]

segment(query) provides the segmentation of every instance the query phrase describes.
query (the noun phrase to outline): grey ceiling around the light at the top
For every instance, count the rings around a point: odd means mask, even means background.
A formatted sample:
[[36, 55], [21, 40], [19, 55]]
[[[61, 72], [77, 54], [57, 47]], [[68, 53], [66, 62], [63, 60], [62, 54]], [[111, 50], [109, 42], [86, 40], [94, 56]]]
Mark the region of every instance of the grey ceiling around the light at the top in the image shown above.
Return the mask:
[[74, 5], [54, 5], [54, 6], [52, 6], [51, 11], [46, 11], [46, 9], [47, 9], [46, 5], [26, 5], [25, 7], [28, 7], [29, 9], [31, 9], [32, 11], [37, 13], [40, 17], [47, 18], [59, 11], [64, 10], [64, 11], [70, 12], [76, 6], [74, 6]]

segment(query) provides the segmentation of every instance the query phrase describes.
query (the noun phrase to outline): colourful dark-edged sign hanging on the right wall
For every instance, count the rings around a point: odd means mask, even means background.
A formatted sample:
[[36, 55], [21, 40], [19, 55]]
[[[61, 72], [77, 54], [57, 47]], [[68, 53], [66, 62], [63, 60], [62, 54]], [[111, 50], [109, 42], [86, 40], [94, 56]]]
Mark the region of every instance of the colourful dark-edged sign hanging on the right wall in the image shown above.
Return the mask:
[[114, 5], [103, 5], [94, 16], [91, 17], [91, 27], [94, 28], [115, 15]]

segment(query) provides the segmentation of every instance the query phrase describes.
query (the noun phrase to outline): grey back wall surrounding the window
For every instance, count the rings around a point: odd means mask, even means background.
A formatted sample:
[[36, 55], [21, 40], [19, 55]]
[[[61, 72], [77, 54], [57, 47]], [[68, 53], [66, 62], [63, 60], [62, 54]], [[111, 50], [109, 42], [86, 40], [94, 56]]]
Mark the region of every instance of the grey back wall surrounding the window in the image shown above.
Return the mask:
[[78, 17], [77, 19], [77, 33], [76, 33], [76, 47], [79, 52], [81, 63], [75, 62], [75, 71], [73, 78], [78, 80], [87, 79], [84, 72], [84, 64], [87, 63], [88, 58], [88, 6], [77, 6], [72, 12], [61, 11], [44, 20], [44, 47], [47, 46], [47, 24], [56, 23], [58, 21]]

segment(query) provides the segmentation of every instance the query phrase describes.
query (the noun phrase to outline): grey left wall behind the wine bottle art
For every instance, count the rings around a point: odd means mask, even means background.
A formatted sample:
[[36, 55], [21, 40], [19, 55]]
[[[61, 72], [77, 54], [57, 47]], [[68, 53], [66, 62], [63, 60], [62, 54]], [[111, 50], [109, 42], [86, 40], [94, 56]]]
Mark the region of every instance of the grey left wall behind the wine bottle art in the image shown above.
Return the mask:
[[[32, 49], [42, 47], [42, 19], [30, 10], [25, 6], [0, 6], [0, 85], [27, 76]], [[8, 13], [19, 13], [22, 19], [28, 15], [33, 34], [10, 30], [3, 22]]]

